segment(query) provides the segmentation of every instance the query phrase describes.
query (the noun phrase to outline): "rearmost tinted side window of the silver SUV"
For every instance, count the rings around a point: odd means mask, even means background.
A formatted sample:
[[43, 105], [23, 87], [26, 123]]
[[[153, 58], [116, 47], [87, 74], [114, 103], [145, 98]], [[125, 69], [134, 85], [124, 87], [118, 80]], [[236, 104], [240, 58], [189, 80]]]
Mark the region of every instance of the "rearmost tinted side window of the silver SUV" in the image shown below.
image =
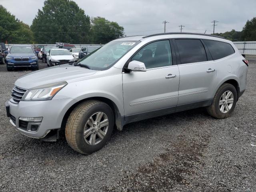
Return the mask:
[[213, 60], [221, 59], [226, 56], [232, 55], [235, 50], [229, 43], [214, 41], [214, 40], [204, 40]]

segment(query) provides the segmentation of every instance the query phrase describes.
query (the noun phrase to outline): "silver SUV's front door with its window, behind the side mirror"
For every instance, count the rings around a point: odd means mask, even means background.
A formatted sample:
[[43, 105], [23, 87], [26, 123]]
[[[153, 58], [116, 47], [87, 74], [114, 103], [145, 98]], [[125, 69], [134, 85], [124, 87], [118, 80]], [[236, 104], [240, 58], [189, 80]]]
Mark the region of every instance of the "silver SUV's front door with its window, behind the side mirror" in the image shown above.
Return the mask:
[[180, 75], [170, 41], [151, 42], [131, 60], [144, 62], [146, 72], [123, 73], [125, 121], [173, 112], [178, 103]]

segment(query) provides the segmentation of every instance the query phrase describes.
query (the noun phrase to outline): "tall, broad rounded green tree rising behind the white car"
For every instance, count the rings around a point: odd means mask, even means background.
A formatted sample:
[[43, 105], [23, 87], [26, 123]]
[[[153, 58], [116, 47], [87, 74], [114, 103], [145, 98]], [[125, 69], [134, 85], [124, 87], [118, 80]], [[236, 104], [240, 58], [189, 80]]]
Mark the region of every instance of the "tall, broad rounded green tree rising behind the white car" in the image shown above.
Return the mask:
[[90, 17], [71, 0], [46, 0], [34, 18], [31, 30], [38, 43], [88, 42]]

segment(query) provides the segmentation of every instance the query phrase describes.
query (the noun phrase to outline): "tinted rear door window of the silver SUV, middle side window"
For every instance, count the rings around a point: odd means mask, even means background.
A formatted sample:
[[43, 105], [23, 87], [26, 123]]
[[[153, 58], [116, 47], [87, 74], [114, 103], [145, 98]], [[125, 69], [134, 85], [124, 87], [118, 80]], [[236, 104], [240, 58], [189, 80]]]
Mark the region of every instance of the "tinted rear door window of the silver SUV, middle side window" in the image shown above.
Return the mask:
[[207, 61], [206, 52], [199, 39], [176, 39], [181, 64]]

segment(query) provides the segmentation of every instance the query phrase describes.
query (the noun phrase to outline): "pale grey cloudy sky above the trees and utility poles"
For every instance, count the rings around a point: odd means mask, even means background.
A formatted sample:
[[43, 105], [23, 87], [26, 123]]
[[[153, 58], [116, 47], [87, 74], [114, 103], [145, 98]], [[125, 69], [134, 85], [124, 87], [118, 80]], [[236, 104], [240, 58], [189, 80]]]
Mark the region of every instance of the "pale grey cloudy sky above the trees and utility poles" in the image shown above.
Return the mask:
[[[90, 17], [101, 16], [118, 22], [129, 35], [164, 32], [212, 33], [212, 21], [219, 21], [215, 32], [242, 30], [256, 17], [256, 0], [74, 0]], [[44, 0], [0, 0], [24, 23], [32, 24]]]

